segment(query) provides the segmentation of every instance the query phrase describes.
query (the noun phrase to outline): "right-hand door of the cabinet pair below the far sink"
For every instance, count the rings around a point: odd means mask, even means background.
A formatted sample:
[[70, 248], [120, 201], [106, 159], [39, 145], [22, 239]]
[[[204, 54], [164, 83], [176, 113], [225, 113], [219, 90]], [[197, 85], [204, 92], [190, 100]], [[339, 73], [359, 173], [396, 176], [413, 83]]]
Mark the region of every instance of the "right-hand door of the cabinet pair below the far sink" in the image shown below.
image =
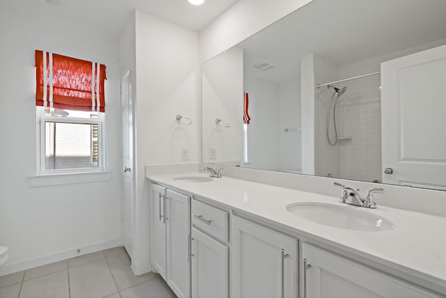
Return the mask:
[[167, 190], [167, 284], [179, 298], [190, 297], [190, 197]]

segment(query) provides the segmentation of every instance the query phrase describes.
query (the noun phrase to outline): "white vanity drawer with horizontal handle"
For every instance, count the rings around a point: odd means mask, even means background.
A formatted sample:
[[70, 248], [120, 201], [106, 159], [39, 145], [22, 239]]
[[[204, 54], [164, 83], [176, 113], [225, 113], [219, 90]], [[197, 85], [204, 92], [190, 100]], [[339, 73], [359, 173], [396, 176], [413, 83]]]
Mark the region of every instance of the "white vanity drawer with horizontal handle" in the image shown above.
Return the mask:
[[229, 241], [229, 213], [197, 200], [192, 200], [192, 225], [203, 232]]

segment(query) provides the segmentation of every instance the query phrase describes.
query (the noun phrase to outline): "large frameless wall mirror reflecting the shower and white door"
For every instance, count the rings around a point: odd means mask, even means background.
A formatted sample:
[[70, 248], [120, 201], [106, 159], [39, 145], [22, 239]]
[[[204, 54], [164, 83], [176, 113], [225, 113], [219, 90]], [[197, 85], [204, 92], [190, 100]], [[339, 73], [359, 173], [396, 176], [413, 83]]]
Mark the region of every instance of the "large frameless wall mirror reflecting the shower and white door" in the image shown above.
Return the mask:
[[203, 162], [446, 190], [446, 1], [314, 0], [203, 64]]

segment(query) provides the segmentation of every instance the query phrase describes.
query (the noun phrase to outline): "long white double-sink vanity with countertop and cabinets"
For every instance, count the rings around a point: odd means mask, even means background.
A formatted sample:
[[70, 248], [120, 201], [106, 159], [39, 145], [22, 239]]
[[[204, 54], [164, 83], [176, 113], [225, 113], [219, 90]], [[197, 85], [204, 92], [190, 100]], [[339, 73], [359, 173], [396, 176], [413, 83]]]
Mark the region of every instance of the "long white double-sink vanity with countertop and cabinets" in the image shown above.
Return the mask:
[[446, 218], [201, 172], [147, 178], [153, 271], [178, 297], [446, 295]]

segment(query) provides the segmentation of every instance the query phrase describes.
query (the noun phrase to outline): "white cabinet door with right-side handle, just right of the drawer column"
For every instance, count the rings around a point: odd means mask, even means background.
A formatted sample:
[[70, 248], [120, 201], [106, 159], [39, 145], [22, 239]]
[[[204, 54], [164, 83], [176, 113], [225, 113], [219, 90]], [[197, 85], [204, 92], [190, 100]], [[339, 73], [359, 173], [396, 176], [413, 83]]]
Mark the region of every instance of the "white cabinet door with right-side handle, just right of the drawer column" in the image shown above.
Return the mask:
[[297, 240], [233, 216], [231, 297], [297, 297]]

